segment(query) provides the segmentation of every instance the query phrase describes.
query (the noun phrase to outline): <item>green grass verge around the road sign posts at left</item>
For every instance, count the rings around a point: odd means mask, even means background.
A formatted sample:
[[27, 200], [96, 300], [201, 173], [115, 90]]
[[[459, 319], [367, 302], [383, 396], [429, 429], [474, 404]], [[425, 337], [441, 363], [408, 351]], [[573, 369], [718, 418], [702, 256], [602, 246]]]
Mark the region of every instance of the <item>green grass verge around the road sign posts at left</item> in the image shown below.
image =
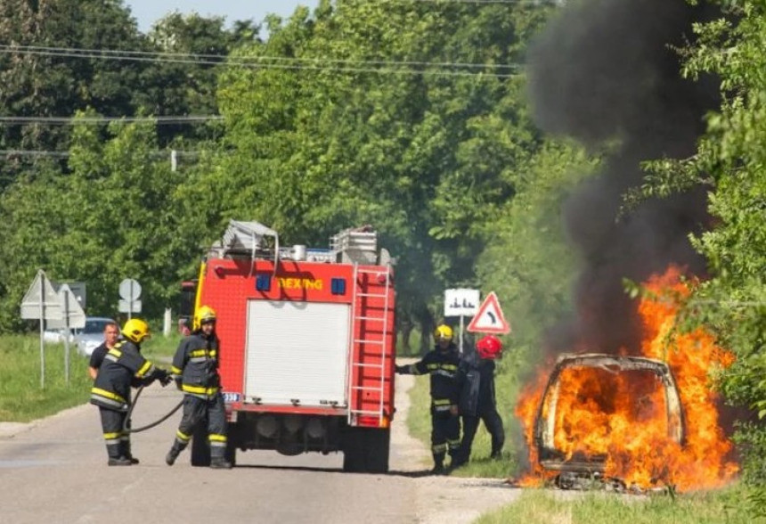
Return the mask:
[[[143, 354], [168, 367], [179, 340], [178, 335], [155, 335], [143, 344]], [[29, 422], [88, 401], [93, 382], [85, 356], [69, 348], [67, 383], [64, 345], [45, 343], [44, 387], [40, 360], [39, 335], [0, 336], [0, 422]]]

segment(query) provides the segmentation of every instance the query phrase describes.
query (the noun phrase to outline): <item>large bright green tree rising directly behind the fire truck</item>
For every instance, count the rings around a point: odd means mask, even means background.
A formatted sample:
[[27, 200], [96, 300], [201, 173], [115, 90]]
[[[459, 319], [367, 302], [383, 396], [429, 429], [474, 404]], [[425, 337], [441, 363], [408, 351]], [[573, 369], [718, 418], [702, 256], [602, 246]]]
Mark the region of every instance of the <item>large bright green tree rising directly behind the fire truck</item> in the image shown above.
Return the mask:
[[400, 318], [431, 332], [444, 286], [476, 279], [481, 228], [466, 225], [493, 219], [536, 147], [520, 84], [496, 64], [517, 60], [542, 18], [349, 0], [270, 20], [268, 42], [236, 55], [264, 69], [221, 79], [223, 215], [247, 212], [299, 242], [375, 225], [399, 261]]

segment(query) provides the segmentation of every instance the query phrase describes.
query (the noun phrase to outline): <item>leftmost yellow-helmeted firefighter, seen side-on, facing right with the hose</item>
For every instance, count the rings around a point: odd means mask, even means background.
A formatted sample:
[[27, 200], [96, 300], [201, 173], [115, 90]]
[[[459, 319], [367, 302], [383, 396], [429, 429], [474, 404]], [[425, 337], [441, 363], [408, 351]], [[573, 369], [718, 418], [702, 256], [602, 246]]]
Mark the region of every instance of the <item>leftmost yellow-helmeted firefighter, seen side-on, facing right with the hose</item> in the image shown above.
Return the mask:
[[125, 430], [130, 409], [130, 388], [148, 386], [159, 380], [170, 381], [167, 371], [159, 369], [141, 355], [141, 343], [149, 336], [149, 325], [138, 318], [128, 320], [119, 340], [104, 356], [91, 389], [91, 404], [101, 413], [103, 438], [110, 466], [138, 463], [130, 452], [130, 432]]

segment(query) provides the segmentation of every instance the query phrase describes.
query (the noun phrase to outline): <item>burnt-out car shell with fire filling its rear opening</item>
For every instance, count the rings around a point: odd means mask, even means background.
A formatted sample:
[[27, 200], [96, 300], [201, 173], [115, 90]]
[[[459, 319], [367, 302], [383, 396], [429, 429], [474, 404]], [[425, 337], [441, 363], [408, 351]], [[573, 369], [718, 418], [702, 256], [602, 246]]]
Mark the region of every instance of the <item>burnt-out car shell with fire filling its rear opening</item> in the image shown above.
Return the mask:
[[[631, 449], [635, 424], [651, 424], [656, 436], [664, 433], [660, 440], [683, 445], [683, 408], [668, 364], [642, 356], [559, 356], [535, 422], [539, 463], [556, 473], [558, 487], [603, 478], [607, 462]], [[623, 449], [613, 446], [615, 434]]]

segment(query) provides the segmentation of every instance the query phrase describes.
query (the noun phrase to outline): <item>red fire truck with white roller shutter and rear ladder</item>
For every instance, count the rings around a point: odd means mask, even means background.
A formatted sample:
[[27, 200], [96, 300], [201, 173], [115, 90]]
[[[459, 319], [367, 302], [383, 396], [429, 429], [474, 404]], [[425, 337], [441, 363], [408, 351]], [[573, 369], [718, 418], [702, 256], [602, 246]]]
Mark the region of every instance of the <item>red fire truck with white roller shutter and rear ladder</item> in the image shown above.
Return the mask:
[[[281, 247], [271, 228], [231, 221], [200, 266], [195, 297], [217, 313], [229, 460], [238, 449], [341, 451], [344, 471], [387, 471], [393, 280], [370, 227], [318, 250]], [[193, 438], [192, 463], [208, 463], [204, 442]]]

